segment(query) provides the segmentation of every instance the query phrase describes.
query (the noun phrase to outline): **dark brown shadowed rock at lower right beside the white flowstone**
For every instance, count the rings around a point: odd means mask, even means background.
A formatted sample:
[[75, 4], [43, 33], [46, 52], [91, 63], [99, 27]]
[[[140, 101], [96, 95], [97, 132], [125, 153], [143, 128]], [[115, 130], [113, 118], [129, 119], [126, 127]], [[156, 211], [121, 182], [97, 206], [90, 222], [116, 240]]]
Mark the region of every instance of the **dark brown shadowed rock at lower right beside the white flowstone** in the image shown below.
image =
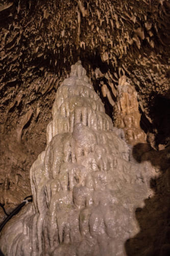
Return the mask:
[[162, 151], [145, 152], [146, 146], [140, 143], [134, 146], [133, 157], [138, 162], [150, 161], [159, 172], [150, 181], [154, 196], [145, 199], [145, 206], [135, 211], [140, 232], [126, 242], [125, 248], [128, 256], [165, 256], [170, 255], [170, 146]]

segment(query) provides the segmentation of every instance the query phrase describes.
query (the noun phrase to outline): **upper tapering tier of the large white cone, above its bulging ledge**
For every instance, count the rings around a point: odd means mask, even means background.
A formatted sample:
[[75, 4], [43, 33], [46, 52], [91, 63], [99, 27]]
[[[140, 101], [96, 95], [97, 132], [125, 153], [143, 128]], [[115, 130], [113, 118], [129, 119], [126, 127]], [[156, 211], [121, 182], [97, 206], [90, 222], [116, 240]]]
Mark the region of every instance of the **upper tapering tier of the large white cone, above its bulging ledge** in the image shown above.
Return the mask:
[[73, 132], [77, 123], [96, 131], [112, 131], [112, 120], [98, 94], [88, 83], [81, 61], [71, 66], [70, 77], [58, 89], [53, 105], [53, 121], [47, 126], [47, 142], [59, 133]]

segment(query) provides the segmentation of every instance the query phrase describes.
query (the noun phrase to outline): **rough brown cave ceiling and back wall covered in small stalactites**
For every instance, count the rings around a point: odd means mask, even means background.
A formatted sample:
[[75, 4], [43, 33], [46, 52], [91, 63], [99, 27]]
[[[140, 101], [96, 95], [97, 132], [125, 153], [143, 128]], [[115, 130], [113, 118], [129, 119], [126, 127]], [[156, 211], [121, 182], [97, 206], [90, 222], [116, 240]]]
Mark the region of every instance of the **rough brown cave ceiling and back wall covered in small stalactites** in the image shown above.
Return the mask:
[[17, 170], [27, 180], [45, 146], [57, 88], [78, 59], [106, 113], [112, 117], [113, 107], [102, 84], [114, 102], [126, 75], [138, 93], [144, 131], [158, 130], [157, 101], [168, 107], [170, 99], [169, 16], [164, 0], [1, 1], [1, 176]]

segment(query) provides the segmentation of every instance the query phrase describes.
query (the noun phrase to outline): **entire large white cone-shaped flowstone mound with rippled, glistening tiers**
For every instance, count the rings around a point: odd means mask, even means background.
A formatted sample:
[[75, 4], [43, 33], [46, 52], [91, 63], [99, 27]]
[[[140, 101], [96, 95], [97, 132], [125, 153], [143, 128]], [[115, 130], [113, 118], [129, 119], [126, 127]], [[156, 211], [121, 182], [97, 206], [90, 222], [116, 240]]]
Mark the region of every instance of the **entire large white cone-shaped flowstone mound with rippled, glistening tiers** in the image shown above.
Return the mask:
[[58, 89], [47, 146], [30, 170], [33, 203], [6, 225], [5, 255], [126, 255], [134, 211], [149, 196], [148, 165], [105, 114], [81, 61]]

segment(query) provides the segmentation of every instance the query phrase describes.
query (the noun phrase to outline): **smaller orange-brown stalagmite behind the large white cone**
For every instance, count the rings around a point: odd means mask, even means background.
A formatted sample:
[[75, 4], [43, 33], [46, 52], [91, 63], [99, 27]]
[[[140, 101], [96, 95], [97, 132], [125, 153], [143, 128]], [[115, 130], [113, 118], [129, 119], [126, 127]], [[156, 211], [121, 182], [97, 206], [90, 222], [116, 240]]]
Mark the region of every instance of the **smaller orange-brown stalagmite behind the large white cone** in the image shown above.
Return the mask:
[[124, 130], [127, 143], [135, 145], [146, 142], [146, 135], [140, 128], [137, 92], [126, 81], [126, 76], [119, 78], [113, 118], [114, 125]]

